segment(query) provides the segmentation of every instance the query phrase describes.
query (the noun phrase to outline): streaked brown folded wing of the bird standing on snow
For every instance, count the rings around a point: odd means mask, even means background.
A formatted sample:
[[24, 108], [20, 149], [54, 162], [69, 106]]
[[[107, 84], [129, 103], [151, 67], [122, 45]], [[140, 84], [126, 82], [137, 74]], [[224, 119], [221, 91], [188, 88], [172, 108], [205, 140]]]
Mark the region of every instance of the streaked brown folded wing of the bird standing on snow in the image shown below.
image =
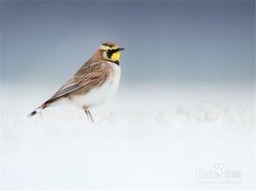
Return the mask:
[[47, 102], [52, 102], [70, 92], [88, 92], [95, 86], [101, 86], [108, 78], [108, 64], [106, 62], [94, 62], [84, 64], [74, 77], [68, 80]]

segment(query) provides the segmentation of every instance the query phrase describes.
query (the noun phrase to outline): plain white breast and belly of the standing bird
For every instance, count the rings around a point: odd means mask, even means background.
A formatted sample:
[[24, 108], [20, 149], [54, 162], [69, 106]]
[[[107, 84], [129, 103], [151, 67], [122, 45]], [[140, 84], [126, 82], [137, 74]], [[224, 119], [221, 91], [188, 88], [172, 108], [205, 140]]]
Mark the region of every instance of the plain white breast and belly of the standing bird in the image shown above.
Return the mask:
[[[118, 66], [116, 66], [118, 67]], [[92, 88], [85, 95], [75, 96], [71, 99], [72, 104], [82, 107], [87, 106], [90, 109], [98, 105], [102, 105], [109, 99], [113, 98], [119, 86], [120, 68], [115, 68], [117, 71], [115, 77], [111, 77], [100, 87]]]

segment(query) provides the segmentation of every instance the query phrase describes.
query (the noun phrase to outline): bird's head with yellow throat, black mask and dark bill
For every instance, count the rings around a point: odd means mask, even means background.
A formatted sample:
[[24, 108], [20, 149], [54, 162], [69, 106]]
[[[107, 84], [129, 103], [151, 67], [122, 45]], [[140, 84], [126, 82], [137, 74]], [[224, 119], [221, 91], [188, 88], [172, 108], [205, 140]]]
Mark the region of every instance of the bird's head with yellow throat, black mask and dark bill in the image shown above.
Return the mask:
[[111, 41], [102, 42], [102, 46], [98, 49], [102, 55], [103, 60], [109, 60], [113, 62], [119, 61], [121, 50], [124, 50], [124, 48], [119, 48]]

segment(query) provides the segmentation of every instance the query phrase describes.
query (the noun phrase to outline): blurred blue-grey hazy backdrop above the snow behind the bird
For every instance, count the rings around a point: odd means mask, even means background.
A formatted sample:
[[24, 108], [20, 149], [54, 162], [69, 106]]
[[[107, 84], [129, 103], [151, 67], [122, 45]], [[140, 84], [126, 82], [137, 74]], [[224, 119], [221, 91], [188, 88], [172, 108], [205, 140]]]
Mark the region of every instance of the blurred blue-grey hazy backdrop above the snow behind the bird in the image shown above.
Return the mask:
[[122, 82], [253, 83], [254, 1], [2, 1], [3, 81], [68, 80], [101, 41]]

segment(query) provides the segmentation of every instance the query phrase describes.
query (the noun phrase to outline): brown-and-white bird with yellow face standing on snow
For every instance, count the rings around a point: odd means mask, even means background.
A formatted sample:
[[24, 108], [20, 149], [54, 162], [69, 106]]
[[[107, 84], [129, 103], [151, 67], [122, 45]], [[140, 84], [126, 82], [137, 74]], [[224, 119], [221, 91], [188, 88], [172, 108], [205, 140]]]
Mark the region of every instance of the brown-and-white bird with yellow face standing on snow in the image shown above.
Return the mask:
[[41, 113], [52, 105], [68, 101], [81, 108], [88, 120], [94, 123], [91, 110], [112, 99], [118, 89], [121, 77], [120, 48], [111, 41], [102, 42], [95, 54], [87, 60], [74, 76], [28, 117]]

